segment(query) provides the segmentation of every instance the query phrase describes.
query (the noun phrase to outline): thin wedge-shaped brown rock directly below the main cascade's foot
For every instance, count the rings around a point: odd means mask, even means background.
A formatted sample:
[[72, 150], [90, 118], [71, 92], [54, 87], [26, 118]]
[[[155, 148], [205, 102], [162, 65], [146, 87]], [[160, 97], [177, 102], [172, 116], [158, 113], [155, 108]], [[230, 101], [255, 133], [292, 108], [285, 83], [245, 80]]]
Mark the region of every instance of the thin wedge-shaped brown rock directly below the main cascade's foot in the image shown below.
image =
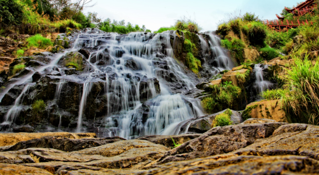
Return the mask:
[[139, 140], [148, 140], [156, 144], [162, 144], [167, 148], [174, 148], [174, 143], [183, 144], [186, 141], [199, 137], [201, 134], [181, 134], [181, 135], [147, 135], [138, 137]]

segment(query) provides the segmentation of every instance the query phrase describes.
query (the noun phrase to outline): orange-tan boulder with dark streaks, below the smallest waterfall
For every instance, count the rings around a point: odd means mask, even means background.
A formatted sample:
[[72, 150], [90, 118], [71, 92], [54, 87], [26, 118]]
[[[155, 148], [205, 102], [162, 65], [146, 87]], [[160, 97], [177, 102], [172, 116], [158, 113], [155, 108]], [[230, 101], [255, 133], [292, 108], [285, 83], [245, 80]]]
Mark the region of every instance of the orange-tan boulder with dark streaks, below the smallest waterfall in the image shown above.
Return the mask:
[[279, 100], [253, 102], [246, 106], [243, 112], [243, 119], [271, 119], [276, 122], [289, 122], [282, 103]]

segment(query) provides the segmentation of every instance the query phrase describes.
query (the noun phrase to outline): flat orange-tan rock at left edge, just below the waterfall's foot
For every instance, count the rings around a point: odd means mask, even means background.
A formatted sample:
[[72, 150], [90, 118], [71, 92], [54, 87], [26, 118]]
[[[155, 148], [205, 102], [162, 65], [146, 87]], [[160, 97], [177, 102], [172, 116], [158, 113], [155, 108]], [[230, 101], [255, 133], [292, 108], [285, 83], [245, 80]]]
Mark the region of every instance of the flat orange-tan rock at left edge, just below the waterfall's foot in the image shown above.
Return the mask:
[[56, 138], [96, 138], [95, 133], [68, 133], [68, 132], [46, 132], [46, 133], [0, 133], [0, 147], [14, 145], [19, 141], [26, 141], [44, 136], [54, 136]]

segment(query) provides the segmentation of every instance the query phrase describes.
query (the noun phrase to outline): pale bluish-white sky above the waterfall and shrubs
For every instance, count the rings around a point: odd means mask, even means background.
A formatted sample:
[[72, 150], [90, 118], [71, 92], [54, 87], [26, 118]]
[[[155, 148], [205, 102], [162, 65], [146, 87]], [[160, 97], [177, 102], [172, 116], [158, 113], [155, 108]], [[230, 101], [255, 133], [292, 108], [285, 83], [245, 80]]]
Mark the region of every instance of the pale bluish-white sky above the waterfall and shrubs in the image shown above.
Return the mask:
[[95, 0], [96, 6], [85, 9], [96, 12], [98, 17], [118, 21], [125, 20], [151, 31], [171, 26], [186, 16], [194, 19], [202, 31], [215, 31], [217, 23], [226, 19], [226, 14], [237, 11], [252, 12], [260, 19], [276, 19], [284, 7], [293, 7], [301, 0]]

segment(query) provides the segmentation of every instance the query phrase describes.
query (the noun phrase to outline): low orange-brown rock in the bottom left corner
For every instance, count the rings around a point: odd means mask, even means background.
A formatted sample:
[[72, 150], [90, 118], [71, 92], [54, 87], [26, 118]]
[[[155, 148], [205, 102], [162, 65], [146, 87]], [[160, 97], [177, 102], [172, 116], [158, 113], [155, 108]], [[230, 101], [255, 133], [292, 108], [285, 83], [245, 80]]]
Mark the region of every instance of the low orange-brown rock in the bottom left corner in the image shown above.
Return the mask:
[[25, 167], [21, 165], [12, 165], [0, 163], [0, 174], [6, 175], [17, 175], [17, 174], [43, 174], [43, 175], [52, 175], [52, 173], [39, 168]]

